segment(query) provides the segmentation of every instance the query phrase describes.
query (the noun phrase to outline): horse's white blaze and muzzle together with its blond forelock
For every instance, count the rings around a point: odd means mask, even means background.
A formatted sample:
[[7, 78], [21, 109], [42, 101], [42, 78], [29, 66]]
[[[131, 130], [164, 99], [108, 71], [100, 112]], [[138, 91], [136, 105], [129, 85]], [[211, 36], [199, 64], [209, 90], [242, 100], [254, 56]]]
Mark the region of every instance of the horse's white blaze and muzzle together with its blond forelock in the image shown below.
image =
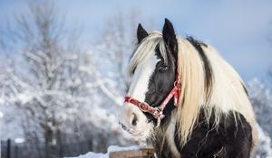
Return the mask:
[[[166, 52], [164, 43], [160, 40], [160, 33], [151, 33], [152, 35], [144, 39], [134, 51], [129, 65], [129, 72], [131, 74], [131, 85], [127, 96], [136, 98], [144, 102], [145, 94], [149, 88], [151, 75], [156, 69], [156, 64], [160, 61], [157, 58], [155, 48], [159, 44], [161, 52]], [[162, 58], [167, 62], [166, 53], [162, 53]], [[132, 75], [132, 71], [134, 71]], [[137, 116], [137, 125], [131, 125], [131, 116]], [[148, 123], [147, 117], [142, 111], [130, 104], [125, 103], [121, 107], [120, 122], [128, 128], [129, 132], [134, 138], [148, 137], [151, 135], [153, 124]]]

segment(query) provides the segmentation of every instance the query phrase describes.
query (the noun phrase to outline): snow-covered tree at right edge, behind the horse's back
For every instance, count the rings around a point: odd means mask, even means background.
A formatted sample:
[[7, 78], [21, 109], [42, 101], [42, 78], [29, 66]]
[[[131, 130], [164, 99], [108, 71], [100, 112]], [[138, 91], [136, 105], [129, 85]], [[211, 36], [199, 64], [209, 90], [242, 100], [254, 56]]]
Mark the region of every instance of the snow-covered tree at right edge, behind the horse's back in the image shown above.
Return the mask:
[[248, 82], [248, 94], [254, 108], [258, 126], [258, 144], [256, 158], [272, 157], [272, 93], [259, 79], [255, 78]]

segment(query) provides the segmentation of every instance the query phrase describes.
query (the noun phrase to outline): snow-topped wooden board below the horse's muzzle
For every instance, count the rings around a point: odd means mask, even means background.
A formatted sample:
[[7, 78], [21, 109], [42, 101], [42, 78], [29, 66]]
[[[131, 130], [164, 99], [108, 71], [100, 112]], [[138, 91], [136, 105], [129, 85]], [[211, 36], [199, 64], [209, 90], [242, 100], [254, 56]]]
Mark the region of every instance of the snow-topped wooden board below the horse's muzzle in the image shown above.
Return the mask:
[[138, 150], [126, 150], [111, 152], [110, 158], [155, 158], [154, 149], [152, 148], [142, 148]]

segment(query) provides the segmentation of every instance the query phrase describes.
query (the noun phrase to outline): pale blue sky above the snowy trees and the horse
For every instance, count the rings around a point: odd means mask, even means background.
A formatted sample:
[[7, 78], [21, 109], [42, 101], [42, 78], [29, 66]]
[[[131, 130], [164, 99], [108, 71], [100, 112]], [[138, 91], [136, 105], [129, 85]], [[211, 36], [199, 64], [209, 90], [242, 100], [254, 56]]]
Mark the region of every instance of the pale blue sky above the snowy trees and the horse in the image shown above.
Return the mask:
[[[15, 13], [24, 11], [24, 0], [0, 0], [0, 27]], [[81, 24], [83, 37], [91, 42], [102, 33], [106, 19], [131, 9], [141, 12], [140, 23], [151, 18], [160, 30], [168, 17], [180, 35], [212, 44], [238, 70], [243, 79], [266, 78], [272, 69], [271, 0], [57, 0], [68, 24]], [[136, 26], [135, 26], [136, 29]]]

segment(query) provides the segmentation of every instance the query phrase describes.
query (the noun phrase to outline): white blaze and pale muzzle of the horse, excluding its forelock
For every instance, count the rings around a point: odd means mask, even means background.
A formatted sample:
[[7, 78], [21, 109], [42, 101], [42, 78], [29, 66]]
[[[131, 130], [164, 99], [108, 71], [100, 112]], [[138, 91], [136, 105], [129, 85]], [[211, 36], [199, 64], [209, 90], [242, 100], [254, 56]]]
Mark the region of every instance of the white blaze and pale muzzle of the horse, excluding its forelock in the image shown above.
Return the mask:
[[[149, 53], [149, 52], [146, 52]], [[137, 69], [134, 71], [134, 75], [131, 77], [131, 85], [127, 96], [136, 98], [137, 100], [144, 102], [145, 94], [149, 88], [149, 82], [151, 75], [153, 74], [156, 64], [159, 59], [155, 56], [154, 52], [149, 60], [144, 60], [137, 65]], [[137, 125], [131, 125], [133, 117], [137, 117]], [[132, 105], [131, 103], [125, 103], [121, 107], [120, 122], [128, 128], [129, 132], [134, 139], [142, 137], [148, 137], [151, 135], [153, 129], [152, 123], [148, 123], [147, 117], [144, 116], [139, 107]]]

